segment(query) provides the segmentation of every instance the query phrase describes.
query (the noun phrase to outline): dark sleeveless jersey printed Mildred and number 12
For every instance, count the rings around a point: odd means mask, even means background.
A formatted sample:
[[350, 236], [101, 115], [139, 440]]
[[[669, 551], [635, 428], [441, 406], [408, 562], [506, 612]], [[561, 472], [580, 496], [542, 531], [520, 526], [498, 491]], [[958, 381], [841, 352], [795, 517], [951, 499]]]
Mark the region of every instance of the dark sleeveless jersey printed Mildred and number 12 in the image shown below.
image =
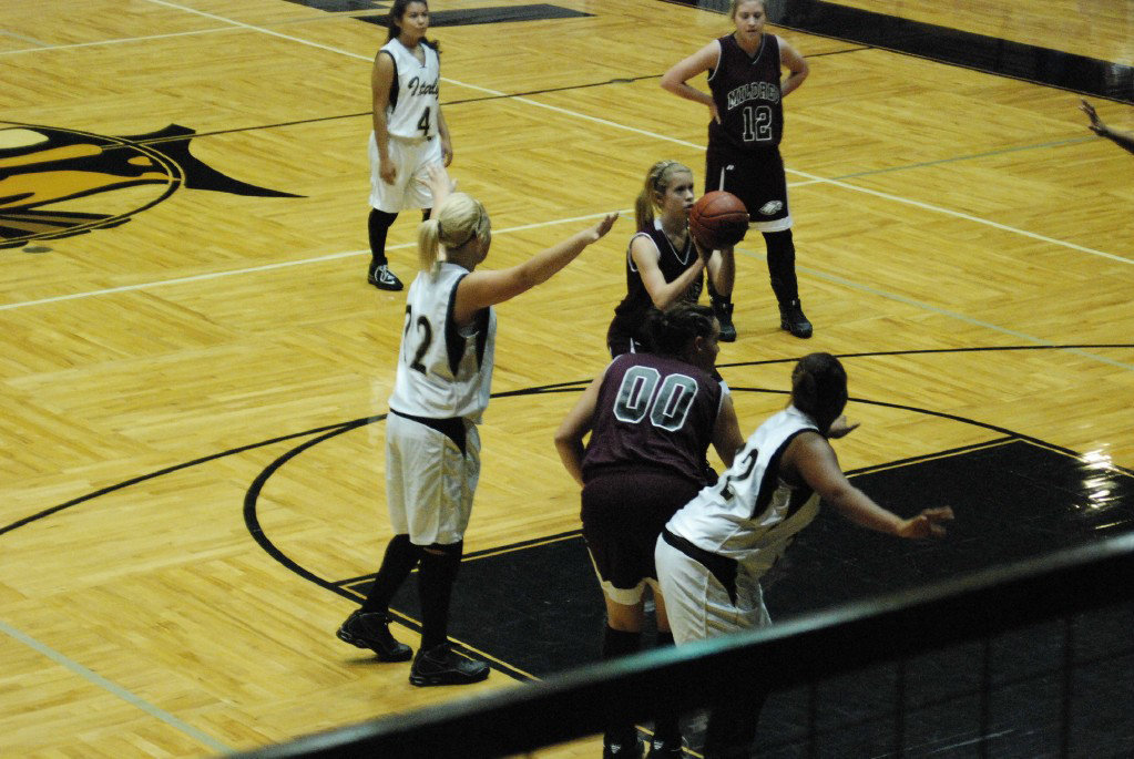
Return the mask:
[[750, 57], [731, 34], [717, 40], [720, 61], [709, 71], [720, 123], [709, 123], [709, 140], [726, 140], [745, 150], [776, 147], [784, 136], [780, 99], [779, 37], [762, 34]]

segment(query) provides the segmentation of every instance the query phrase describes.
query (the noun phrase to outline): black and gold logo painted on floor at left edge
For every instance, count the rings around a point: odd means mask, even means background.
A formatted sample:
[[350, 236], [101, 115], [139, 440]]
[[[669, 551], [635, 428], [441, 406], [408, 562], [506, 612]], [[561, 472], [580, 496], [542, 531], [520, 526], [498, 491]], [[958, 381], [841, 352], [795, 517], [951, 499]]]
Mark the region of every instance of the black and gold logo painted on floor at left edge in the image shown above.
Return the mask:
[[35, 125], [0, 129], [0, 248], [117, 227], [181, 187], [302, 197], [206, 165], [189, 153], [196, 134], [176, 123], [129, 137]]

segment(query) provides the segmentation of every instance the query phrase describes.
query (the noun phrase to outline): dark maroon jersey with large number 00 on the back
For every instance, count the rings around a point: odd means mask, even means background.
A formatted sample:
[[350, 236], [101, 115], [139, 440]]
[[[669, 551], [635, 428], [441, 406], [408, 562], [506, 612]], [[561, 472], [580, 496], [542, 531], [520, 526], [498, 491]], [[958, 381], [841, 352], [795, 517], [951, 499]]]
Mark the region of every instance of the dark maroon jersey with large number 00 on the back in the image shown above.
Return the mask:
[[583, 481], [603, 470], [645, 466], [703, 484], [723, 393], [721, 383], [679, 359], [619, 356], [599, 385]]

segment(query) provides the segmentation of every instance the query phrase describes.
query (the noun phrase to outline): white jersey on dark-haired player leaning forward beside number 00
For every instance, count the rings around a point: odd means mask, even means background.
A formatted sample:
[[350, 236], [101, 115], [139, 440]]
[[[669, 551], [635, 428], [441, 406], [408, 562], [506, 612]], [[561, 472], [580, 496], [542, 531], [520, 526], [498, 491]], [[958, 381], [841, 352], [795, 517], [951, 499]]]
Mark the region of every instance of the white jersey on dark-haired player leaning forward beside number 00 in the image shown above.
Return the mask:
[[703, 488], [666, 526], [674, 535], [760, 577], [776, 563], [795, 534], [819, 513], [811, 488], [780, 479], [779, 460], [796, 435], [818, 427], [807, 415], [788, 407], [752, 433], [733, 466], [716, 485]]

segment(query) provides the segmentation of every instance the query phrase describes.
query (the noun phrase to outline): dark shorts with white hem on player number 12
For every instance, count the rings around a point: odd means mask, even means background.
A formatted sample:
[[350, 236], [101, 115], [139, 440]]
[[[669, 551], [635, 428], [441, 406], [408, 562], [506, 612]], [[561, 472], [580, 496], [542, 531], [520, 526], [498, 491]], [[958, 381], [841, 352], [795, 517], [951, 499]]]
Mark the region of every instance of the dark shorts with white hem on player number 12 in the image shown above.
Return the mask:
[[748, 210], [750, 229], [782, 232], [792, 229], [787, 205], [787, 177], [778, 147], [738, 151], [711, 145], [705, 155], [705, 191], [722, 189], [741, 198]]

